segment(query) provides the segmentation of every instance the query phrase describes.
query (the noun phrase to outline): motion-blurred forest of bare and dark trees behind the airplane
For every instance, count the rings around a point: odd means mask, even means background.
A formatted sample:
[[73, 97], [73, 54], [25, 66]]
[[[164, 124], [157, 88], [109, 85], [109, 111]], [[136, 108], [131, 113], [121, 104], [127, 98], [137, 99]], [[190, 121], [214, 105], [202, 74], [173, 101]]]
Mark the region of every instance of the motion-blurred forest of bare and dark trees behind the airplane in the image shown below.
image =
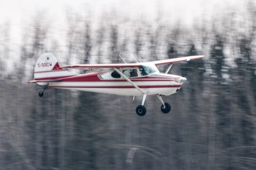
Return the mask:
[[[0, 25], [0, 169], [256, 169], [256, 6], [227, 8], [192, 27], [158, 17], [132, 20], [113, 10], [99, 22], [65, 11], [56, 38], [52, 20], [39, 11], [22, 24], [13, 45], [12, 25]], [[63, 41], [63, 42], [62, 42]], [[17, 50], [18, 49], [18, 50]], [[26, 84], [36, 60], [50, 52], [60, 65], [153, 61], [189, 55], [203, 60], [174, 64], [187, 78], [181, 90], [155, 96], [147, 113], [142, 97], [47, 89]], [[159, 67], [164, 71], [167, 66]], [[82, 73], [82, 72], [81, 72]]]

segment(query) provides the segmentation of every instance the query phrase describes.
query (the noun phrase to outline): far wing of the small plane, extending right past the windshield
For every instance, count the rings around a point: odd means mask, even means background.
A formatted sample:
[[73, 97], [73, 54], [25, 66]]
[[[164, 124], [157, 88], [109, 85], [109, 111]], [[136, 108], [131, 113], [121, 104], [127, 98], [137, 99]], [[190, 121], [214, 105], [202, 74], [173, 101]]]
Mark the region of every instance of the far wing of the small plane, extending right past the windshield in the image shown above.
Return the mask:
[[204, 55], [194, 55], [194, 56], [187, 56], [187, 57], [179, 57], [179, 58], [172, 58], [172, 59], [166, 59], [166, 60], [158, 60], [158, 61], [152, 61], [148, 63], [153, 63], [155, 65], [160, 64], [173, 64], [173, 63], [179, 63], [184, 61], [190, 61], [190, 60], [196, 60], [199, 58], [205, 57]]

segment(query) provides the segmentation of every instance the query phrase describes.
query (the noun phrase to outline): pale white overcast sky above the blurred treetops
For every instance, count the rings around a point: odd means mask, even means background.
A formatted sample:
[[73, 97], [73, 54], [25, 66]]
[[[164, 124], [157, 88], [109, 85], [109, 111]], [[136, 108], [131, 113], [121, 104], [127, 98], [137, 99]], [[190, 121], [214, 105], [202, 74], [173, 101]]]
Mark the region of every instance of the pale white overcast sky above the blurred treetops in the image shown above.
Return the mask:
[[171, 23], [179, 19], [181, 24], [191, 26], [194, 23], [200, 24], [202, 16], [211, 18], [226, 9], [239, 13], [247, 2], [248, 0], [0, 0], [0, 28], [1, 24], [8, 21], [11, 27], [11, 44], [19, 44], [21, 22], [29, 21], [40, 10], [45, 11], [45, 17], [51, 20], [51, 27], [55, 28], [54, 36], [61, 37], [63, 35], [60, 35], [60, 30], [56, 29], [65, 28], [67, 8], [72, 8], [81, 15], [91, 9], [93, 24], [103, 12], [114, 9], [117, 16], [138, 19], [143, 15], [148, 21], [154, 21], [160, 10], [162, 20]]

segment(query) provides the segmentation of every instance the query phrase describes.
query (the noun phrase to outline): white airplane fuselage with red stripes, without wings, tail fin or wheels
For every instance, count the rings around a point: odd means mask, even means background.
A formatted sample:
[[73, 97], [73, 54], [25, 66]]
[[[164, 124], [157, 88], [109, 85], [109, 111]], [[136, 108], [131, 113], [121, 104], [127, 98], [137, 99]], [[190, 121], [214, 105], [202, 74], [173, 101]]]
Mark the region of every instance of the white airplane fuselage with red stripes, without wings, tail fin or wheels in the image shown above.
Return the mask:
[[[99, 92], [118, 95], [143, 95], [138, 89], [124, 78], [112, 78], [110, 73], [87, 73], [61, 78], [59, 82], [48, 82], [48, 87], [72, 89], [87, 92]], [[177, 92], [183, 82], [179, 82], [181, 76], [153, 73], [147, 76], [129, 78], [147, 95], [171, 95]], [[46, 85], [46, 82], [38, 82]]]

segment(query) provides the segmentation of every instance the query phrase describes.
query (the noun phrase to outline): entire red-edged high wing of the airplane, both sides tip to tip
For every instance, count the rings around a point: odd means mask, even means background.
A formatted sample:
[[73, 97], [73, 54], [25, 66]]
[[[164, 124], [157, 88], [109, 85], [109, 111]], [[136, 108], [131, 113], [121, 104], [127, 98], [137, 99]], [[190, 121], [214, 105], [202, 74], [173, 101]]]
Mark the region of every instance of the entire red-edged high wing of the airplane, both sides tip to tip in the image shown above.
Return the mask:
[[[205, 57], [204, 55], [195, 55], [195, 56], [188, 56], [188, 57], [179, 57], [179, 58], [172, 58], [166, 60], [159, 60], [159, 61], [152, 61], [152, 62], [145, 62], [145, 63], [153, 63], [155, 65], [160, 64], [173, 64], [179, 63], [183, 61], [195, 60], [199, 58]], [[140, 67], [143, 63], [124, 63], [124, 64], [76, 64], [76, 65], [65, 65], [60, 68], [74, 68], [80, 70], [90, 70], [90, 69], [99, 69], [99, 68], [127, 68], [127, 67]]]

